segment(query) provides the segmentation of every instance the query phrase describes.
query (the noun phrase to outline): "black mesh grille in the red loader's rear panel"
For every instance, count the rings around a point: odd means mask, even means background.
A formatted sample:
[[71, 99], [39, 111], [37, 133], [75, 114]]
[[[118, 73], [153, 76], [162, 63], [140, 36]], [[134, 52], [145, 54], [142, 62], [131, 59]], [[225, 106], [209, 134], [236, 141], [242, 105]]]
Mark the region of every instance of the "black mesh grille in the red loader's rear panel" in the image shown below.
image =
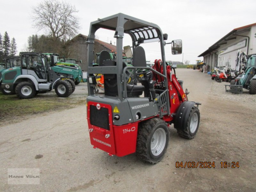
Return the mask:
[[90, 105], [90, 123], [103, 129], [109, 129], [108, 109], [100, 108], [98, 110], [96, 106]]

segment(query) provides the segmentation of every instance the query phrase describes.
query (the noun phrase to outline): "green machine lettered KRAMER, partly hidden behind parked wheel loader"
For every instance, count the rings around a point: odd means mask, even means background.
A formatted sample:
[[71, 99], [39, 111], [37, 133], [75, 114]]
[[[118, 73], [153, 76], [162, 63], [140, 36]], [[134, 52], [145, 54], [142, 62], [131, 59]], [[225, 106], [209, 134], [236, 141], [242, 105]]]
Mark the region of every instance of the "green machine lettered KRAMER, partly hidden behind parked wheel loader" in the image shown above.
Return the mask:
[[[73, 79], [75, 85], [80, 82], [87, 82], [86, 72], [79, 68], [79, 65], [68, 62], [60, 62], [59, 54], [57, 53], [42, 53], [47, 57], [47, 61], [51, 66], [52, 70], [61, 79]], [[67, 60], [66, 60], [67, 61]]]

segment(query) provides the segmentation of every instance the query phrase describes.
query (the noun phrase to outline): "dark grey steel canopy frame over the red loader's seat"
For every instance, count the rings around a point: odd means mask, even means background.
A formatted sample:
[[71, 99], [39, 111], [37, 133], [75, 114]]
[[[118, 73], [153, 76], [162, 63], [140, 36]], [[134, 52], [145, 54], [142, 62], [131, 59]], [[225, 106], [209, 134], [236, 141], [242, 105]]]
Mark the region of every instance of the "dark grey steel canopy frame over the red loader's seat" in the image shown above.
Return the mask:
[[[94, 60], [93, 55], [93, 46], [95, 39], [95, 32], [99, 28], [105, 28], [115, 31], [114, 37], [116, 41], [116, 66], [108, 67], [92, 67]], [[160, 27], [154, 23], [150, 23], [144, 20], [140, 20], [123, 13], [118, 13], [103, 19], [98, 19], [91, 22], [90, 31], [88, 38], [86, 40], [87, 45], [87, 62], [88, 62], [88, 74], [92, 76], [95, 73], [104, 73], [104, 74], [116, 74], [117, 75], [117, 85], [118, 85], [118, 97], [120, 100], [124, 99], [124, 86], [122, 81], [123, 74], [123, 40], [124, 33], [129, 34], [132, 38], [132, 48], [135, 48], [136, 44], [143, 43], [146, 40], [158, 39], [160, 41], [162, 61], [163, 61], [163, 73], [166, 76], [166, 65], [165, 65], [165, 55], [164, 55], [164, 37]], [[103, 69], [104, 68], [104, 69]], [[165, 78], [166, 79], [166, 78]], [[168, 83], [164, 80], [165, 88], [167, 89]], [[93, 95], [93, 87], [90, 87], [88, 83], [88, 93]]]

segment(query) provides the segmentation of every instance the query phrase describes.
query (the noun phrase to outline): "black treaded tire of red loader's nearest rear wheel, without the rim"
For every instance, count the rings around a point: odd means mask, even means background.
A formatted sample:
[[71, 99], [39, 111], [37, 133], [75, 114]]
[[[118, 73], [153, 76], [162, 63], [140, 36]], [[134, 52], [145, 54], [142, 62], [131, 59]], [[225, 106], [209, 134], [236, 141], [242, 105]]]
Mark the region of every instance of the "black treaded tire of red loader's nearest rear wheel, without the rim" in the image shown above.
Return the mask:
[[[154, 139], [152, 140], [153, 135], [156, 131], [159, 131], [159, 130], [160, 131], [164, 130], [166, 134], [166, 138], [165, 138], [166, 141], [164, 144], [164, 148], [162, 149], [162, 152], [159, 155], [155, 156], [151, 152], [151, 141], [152, 142], [154, 141]], [[142, 161], [145, 161], [151, 164], [158, 163], [164, 157], [164, 154], [166, 152], [166, 149], [169, 143], [169, 138], [170, 138], [169, 128], [162, 119], [152, 118], [140, 123], [138, 127], [137, 147], [136, 147], [138, 158], [141, 159]]]

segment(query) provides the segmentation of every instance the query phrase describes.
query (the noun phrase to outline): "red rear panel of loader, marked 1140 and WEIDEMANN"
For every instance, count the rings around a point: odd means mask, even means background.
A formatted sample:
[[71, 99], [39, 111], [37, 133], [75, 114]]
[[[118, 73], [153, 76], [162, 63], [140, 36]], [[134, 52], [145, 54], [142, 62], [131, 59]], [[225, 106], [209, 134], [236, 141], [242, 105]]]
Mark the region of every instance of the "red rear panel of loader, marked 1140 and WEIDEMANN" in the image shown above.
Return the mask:
[[94, 148], [116, 156], [125, 156], [136, 151], [138, 122], [113, 125], [111, 106], [92, 101], [87, 103], [87, 121]]

